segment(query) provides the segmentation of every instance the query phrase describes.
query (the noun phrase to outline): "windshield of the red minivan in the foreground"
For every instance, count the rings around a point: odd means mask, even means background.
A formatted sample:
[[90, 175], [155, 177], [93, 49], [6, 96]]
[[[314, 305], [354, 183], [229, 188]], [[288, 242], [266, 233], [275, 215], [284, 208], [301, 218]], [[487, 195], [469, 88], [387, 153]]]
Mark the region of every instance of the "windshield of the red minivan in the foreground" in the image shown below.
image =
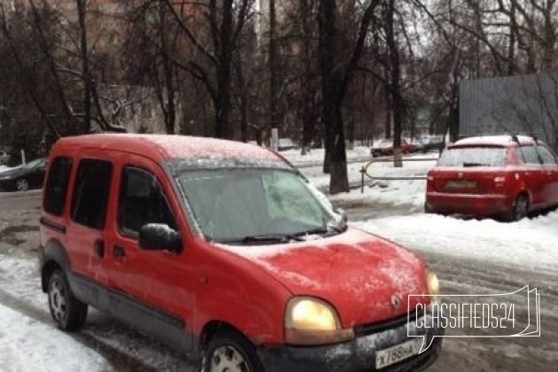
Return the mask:
[[215, 241], [325, 232], [339, 217], [312, 185], [290, 171], [185, 171], [177, 181], [199, 228]]

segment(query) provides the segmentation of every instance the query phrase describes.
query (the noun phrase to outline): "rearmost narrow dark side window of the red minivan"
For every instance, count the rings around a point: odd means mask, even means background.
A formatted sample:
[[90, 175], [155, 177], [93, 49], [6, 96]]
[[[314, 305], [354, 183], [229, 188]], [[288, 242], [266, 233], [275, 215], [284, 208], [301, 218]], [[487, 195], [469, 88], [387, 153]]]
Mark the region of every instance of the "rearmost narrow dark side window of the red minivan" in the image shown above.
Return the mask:
[[72, 159], [58, 157], [52, 160], [43, 196], [43, 208], [47, 213], [59, 216], [64, 212], [71, 172]]

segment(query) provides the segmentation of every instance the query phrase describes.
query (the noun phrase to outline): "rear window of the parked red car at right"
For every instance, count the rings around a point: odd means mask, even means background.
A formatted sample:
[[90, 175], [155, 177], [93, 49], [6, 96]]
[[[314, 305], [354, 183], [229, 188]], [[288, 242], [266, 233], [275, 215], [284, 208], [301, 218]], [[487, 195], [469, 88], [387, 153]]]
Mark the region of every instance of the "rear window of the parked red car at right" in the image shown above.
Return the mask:
[[453, 147], [442, 152], [438, 167], [502, 167], [506, 165], [504, 147]]

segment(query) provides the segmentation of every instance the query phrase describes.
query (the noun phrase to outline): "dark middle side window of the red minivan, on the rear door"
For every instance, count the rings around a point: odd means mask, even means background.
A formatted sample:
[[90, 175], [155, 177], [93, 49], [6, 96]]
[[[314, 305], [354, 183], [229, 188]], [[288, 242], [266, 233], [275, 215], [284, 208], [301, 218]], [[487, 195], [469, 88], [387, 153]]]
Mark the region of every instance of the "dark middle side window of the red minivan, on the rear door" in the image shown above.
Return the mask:
[[80, 161], [72, 198], [72, 220], [91, 229], [105, 227], [111, 178], [110, 161], [99, 159]]

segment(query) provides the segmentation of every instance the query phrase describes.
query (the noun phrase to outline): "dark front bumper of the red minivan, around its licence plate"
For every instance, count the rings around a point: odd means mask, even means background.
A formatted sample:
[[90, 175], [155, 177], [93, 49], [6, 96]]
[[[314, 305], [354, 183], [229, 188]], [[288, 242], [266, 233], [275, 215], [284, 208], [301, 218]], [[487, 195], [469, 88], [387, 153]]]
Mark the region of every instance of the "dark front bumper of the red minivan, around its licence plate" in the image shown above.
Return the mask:
[[[427, 317], [423, 318], [426, 319]], [[423, 336], [430, 342], [432, 337], [443, 336], [444, 329], [431, 322]], [[351, 341], [337, 345], [323, 346], [260, 346], [258, 355], [266, 372], [371, 372], [376, 370], [376, 352], [399, 345], [411, 339], [407, 337], [407, 327], [411, 323], [385, 329], [369, 335], [360, 335]], [[415, 331], [413, 331], [415, 332]], [[418, 371], [427, 368], [441, 351], [442, 338], [436, 337], [430, 348], [423, 353], [401, 360], [383, 372]]]

